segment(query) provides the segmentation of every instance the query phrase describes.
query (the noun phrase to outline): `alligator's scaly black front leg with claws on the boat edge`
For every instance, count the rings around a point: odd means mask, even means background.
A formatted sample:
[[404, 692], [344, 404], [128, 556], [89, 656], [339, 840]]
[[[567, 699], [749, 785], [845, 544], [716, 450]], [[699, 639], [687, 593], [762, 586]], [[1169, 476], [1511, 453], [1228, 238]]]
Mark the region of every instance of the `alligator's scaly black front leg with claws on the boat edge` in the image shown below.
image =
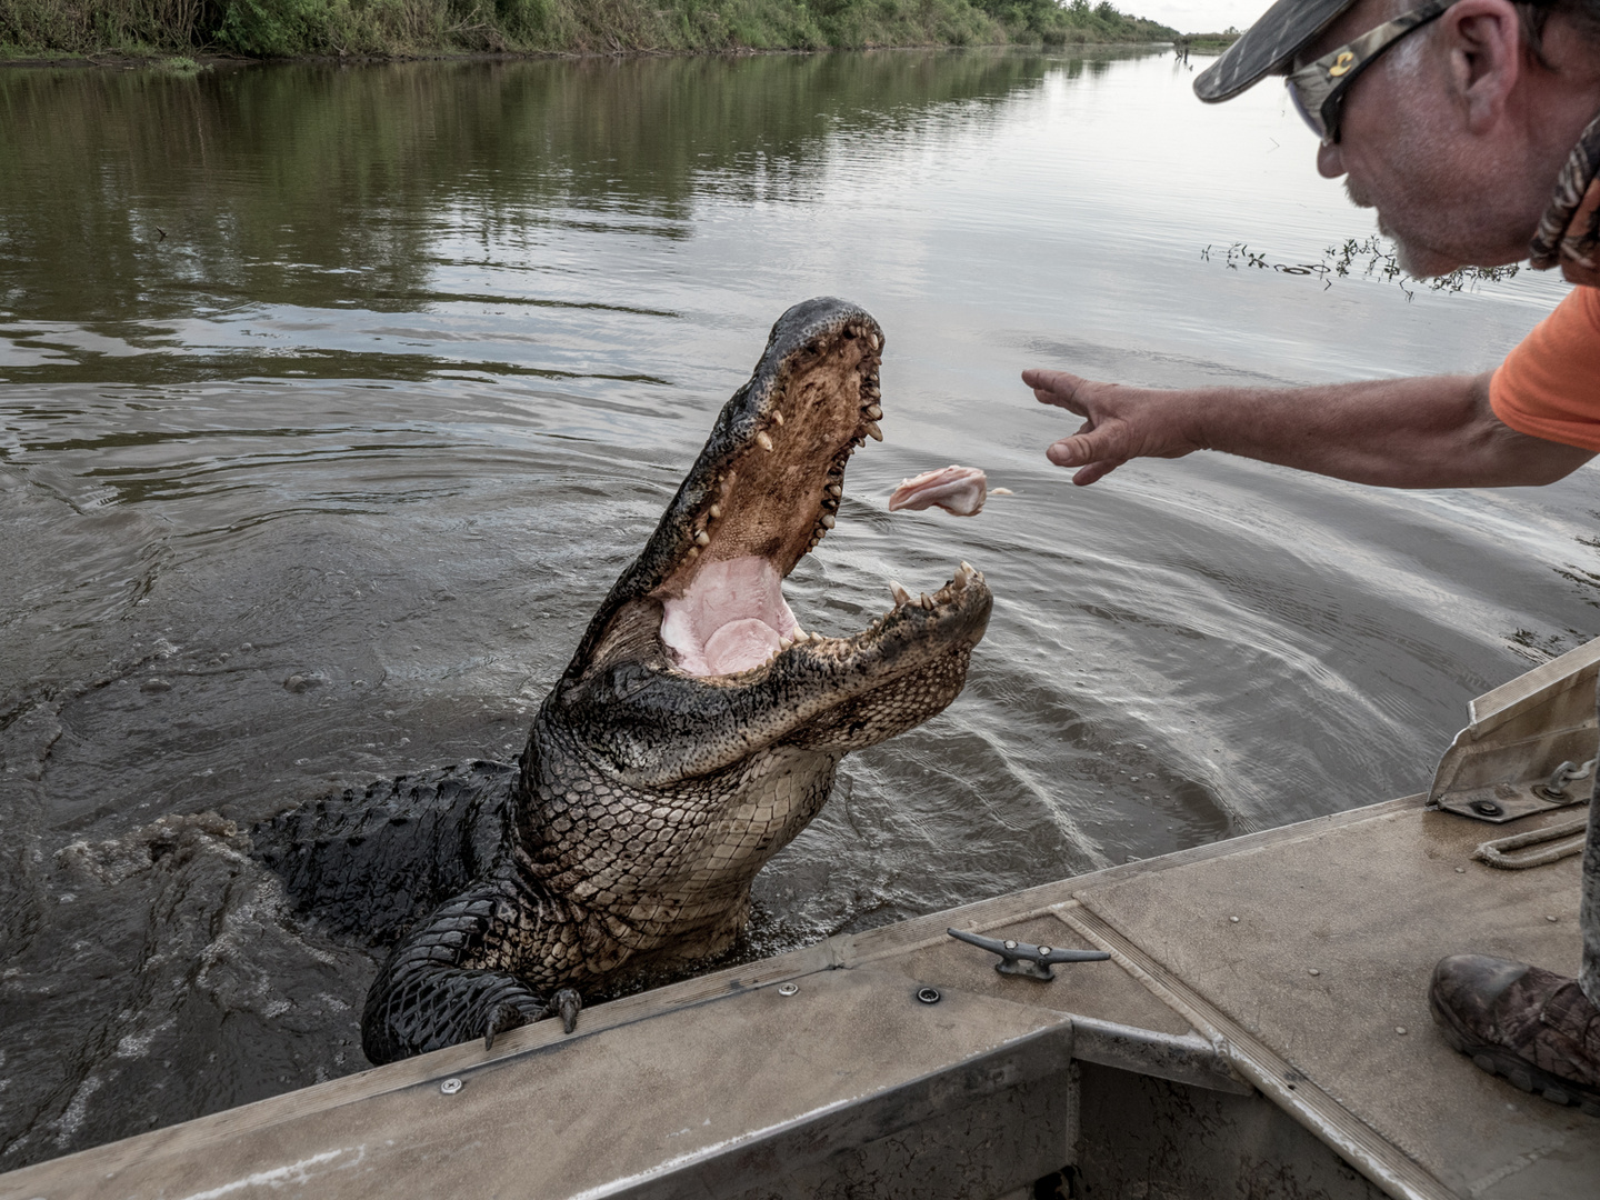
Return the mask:
[[510, 885], [485, 880], [445, 902], [408, 934], [378, 973], [362, 1013], [362, 1050], [384, 1064], [560, 1016], [571, 1034], [582, 1002], [570, 987], [541, 997], [522, 979], [483, 963], [504, 944], [499, 914]]

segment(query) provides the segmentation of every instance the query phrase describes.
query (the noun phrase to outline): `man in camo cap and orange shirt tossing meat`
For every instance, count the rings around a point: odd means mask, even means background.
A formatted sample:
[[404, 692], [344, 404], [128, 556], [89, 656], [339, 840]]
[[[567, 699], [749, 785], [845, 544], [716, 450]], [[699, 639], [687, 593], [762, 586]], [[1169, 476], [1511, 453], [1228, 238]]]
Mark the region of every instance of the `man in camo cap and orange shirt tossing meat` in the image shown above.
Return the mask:
[[[1195, 80], [1224, 101], [1285, 74], [1317, 168], [1413, 275], [1531, 258], [1576, 286], [1498, 371], [1307, 389], [1147, 390], [1024, 371], [1085, 418], [1050, 461], [1093, 483], [1195, 450], [1392, 488], [1550, 483], [1600, 451], [1600, 0], [1278, 0]], [[1600, 1117], [1600, 800], [1582, 973], [1454, 955], [1429, 998], [1485, 1070]]]

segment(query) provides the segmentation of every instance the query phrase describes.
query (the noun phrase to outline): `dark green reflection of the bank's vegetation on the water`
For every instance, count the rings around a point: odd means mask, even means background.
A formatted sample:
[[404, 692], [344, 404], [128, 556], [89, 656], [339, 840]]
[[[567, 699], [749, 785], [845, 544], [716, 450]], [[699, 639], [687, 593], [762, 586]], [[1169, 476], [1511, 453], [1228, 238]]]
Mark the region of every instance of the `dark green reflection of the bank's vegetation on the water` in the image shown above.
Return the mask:
[[531, 262], [544, 230], [574, 219], [688, 237], [696, 197], [814, 198], [830, 139], [888, 150], [930, 120], [970, 122], [1046, 70], [1117, 56], [0, 72], [0, 320], [125, 339], [146, 354], [117, 370], [141, 378], [258, 373], [168, 354], [171, 323], [275, 304], [410, 312], [445, 299], [440, 254], [470, 250], [440, 238], [461, 230], [522, 242]]

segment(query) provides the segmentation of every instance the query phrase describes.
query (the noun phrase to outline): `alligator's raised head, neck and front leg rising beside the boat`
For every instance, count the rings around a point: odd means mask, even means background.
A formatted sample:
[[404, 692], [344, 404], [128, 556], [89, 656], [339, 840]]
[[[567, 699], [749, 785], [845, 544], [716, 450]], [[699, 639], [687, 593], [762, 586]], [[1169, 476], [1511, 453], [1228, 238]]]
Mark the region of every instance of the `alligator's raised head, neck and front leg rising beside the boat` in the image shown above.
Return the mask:
[[853, 637], [805, 632], [782, 595], [835, 525], [850, 456], [882, 440], [882, 349], [878, 323], [832, 298], [773, 326], [541, 704], [498, 848], [462, 842], [482, 870], [379, 970], [362, 1016], [374, 1064], [550, 1016], [571, 1032], [581, 997], [624, 968], [725, 950], [845, 754], [962, 691], [992, 605], [966, 563], [933, 595], [893, 584]]

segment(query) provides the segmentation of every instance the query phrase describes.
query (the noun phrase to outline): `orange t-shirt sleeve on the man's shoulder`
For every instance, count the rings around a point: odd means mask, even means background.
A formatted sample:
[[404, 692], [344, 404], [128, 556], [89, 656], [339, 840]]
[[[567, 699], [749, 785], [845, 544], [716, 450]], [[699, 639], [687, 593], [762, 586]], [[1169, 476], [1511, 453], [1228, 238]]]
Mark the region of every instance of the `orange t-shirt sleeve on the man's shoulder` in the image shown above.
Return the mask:
[[1518, 434], [1600, 451], [1600, 288], [1573, 288], [1506, 355], [1490, 408]]

